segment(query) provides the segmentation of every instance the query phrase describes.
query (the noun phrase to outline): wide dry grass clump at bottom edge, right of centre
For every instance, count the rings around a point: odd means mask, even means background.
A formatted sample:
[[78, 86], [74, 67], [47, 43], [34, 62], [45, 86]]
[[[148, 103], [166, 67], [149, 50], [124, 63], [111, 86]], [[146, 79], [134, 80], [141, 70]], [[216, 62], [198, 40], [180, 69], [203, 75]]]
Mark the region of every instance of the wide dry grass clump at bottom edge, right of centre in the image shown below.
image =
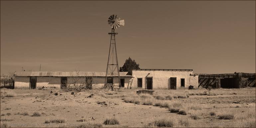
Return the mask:
[[155, 119], [152, 122], [148, 124], [149, 126], [156, 126], [156, 127], [173, 127], [174, 122], [173, 120], [167, 119], [167, 118], [160, 118], [160, 119]]

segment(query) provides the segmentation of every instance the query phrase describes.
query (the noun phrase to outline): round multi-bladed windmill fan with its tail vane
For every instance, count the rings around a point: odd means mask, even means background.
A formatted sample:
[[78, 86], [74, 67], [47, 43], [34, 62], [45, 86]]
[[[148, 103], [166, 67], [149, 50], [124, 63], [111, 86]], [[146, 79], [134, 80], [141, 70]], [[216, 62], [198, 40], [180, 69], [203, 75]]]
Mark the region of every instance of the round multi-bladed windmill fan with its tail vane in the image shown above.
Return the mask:
[[111, 26], [112, 29], [117, 29], [120, 25], [124, 26], [124, 20], [120, 20], [117, 15], [111, 15], [108, 18], [108, 24]]

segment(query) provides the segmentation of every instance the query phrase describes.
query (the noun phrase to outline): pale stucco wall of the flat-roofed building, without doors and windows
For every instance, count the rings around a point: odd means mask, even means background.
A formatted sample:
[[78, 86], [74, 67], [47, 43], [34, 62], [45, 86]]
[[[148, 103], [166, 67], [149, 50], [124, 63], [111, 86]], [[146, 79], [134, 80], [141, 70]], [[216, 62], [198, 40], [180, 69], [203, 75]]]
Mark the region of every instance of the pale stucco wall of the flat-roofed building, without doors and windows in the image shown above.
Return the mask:
[[[150, 73], [148, 75], [148, 73]], [[153, 89], [170, 89], [170, 77], [177, 77], [177, 89], [181, 87], [181, 78], [185, 78], [185, 88], [189, 85], [198, 87], [198, 75], [190, 76], [192, 71], [158, 71], [158, 70], [133, 70], [133, 82], [132, 87], [138, 87], [137, 78], [142, 78], [142, 88], [146, 87], [146, 76], [152, 77], [153, 79]], [[186, 86], [188, 85], [188, 86]]]

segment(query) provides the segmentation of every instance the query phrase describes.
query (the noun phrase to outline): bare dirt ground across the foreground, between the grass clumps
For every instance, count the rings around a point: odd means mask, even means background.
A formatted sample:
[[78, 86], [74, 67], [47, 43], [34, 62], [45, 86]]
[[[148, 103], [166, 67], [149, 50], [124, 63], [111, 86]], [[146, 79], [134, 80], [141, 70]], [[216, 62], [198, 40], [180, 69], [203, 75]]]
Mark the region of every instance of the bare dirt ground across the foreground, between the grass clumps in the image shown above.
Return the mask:
[[[4, 96], [4, 91], [10, 91], [14, 94], [14, 97]], [[101, 123], [102, 127], [144, 127], [148, 120], [154, 118], [169, 117], [174, 120], [182, 120], [190, 116], [170, 113], [169, 109], [164, 107], [126, 103], [122, 100], [122, 95], [135, 91], [135, 89], [106, 92], [104, 90], [100, 92], [89, 90], [74, 92], [74, 95], [72, 95], [70, 91], [65, 92], [52, 88], [51, 90], [1, 89], [1, 126], [5, 123], [7, 127], [76, 127], [83, 123], [77, 120], [87, 119], [92, 122]], [[184, 89], [164, 91], [173, 93], [175, 91], [184, 91]], [[203, 92], [205, 89], [199, 91]], [[212, 91], [216, 91], [219, 94], [211, 96], [189, 95], [187, 98], [176, 98], [173, 100], [183, 102], [187, 106], [192, 104], [207, 105], [209, 108], [203, 108], [205, 112], [216, 111], [217, 114], [218, 111], [230, 110], [235, 111], [236, 115], [242, 112], [255, 113], [255, 88], [218, 89]], [[237, 94], [230, 94], [231, 91]], [[58, 95], [55, 95], [56, 92]], [[106, 94], [109, 92], [111, 94]], [[88, 97], [90, 94], [94, 95]], [[98, 101], [105, 101], [105, 103], [98, 104]], [[173, 101], [171, 100], [170, 102]], [[17, 114], [18, 112], [28, 112], [28, 115], [20, 115]], [[41, 116], [33, 116], [34, 112], [41, 113]], [[7, 113], [10, 113], [10, 115], [7, 115]], [[253, 116], [255, 120], [255, 114]], [[106, 117], [116, 117], [120, 122], [119, 125], [103, 125]], [[9, 121], [4, 121], [3, 119], [9, 119]], [[65, 123], [45, 123], [48, 119], [64, 119]], [[251, 124], [247, 125], [246, 121], [240, 124], [235, 124], [235, 121], [220, 120], [217, 119], [217, 115], [215, 117], [201, 115], [200, 119], [191, 120], [192, 125], [190, 127], [251, 126]]]

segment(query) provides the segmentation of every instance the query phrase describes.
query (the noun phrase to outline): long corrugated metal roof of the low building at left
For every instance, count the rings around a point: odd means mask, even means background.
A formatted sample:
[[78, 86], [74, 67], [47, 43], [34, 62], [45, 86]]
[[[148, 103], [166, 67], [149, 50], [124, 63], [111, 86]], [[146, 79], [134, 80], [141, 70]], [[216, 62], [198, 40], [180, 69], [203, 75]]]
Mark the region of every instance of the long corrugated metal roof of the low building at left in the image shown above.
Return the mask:
[[[127, 75], [128, 72], [119, 72], [120, 76], [132, 77], [131, 75]], [[90, 71], [16, 71], [15, 76], [100, 76], [105, 77], [106, 72], [90, 72]], [[114, 72], [115, 76], [117, 76], [117, 72]], [[108, 75], [110, 73], [108, 72]]]

